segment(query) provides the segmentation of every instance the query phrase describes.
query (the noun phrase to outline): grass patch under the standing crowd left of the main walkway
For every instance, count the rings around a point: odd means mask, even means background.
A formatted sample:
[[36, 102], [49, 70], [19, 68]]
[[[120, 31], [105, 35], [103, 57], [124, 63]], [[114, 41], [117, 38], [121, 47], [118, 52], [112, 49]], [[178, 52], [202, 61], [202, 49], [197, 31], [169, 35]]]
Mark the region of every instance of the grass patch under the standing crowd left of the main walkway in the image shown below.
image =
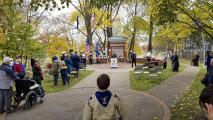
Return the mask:
[[82, 79], [84, 79], [85, 77], [90, 75], [92, 72], [93, 72], [92, 70], [80, 71], [79, 77], [77, 79], [75, 79], [74, 76], [72, 75], [71, 81], [70, 81], [71, 83], [69, 86], [68, 85], [63, 86], [62, 80], [61, 80], [61, 78], [59, 78], [59, 85], [56, 87], [53, 86], [53, 84], [54, 84], [53, 76], [48, 75], [42, 81], [42, 86], [43, 86], [44, 90], [46, 91], [46, 93], [60, 92], [63, 90], [67, 90], [71, 86], [75, 85], [76, 83], [78, 83], [79, 81], [81, 81]]

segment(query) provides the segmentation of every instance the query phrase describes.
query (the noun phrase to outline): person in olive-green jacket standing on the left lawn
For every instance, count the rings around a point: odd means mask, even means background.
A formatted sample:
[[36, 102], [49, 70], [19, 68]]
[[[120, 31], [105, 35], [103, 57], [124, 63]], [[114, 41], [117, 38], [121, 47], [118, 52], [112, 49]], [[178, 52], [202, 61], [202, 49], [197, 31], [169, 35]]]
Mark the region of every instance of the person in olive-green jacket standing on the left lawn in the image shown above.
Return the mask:
[[54, 86], [58, 85], [58, 78], [60, 72], [60, 61], [57, 56], [53, 57], [53, 64], [52, 64], [52, 74], [54, 77]]

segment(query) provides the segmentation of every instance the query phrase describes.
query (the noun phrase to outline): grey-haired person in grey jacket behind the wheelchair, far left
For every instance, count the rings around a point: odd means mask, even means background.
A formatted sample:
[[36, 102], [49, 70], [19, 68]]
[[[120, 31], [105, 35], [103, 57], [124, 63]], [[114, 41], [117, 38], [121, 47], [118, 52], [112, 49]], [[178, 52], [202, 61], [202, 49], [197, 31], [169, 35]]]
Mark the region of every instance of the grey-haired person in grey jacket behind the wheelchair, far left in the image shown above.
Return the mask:
[[10, 66], [11, 62], [11, 58], [4, 57], [0, 66], [0, 114], [12, 112], [13, 80], [19, 79]]

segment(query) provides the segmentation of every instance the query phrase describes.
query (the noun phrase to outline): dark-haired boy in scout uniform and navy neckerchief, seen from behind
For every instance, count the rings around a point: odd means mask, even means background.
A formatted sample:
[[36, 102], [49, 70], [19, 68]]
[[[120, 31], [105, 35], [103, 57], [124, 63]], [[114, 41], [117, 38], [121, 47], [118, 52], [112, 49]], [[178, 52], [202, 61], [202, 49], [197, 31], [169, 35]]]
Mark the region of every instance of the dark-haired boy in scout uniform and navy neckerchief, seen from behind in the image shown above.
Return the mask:
[[99, 75], [97, 79], [99, 91], [91, 96], [85, 105], [83, 120], [115, 120], [124, 119], [123, 103], [117, 95], [108, 90], [110, 78], [107, 74]]

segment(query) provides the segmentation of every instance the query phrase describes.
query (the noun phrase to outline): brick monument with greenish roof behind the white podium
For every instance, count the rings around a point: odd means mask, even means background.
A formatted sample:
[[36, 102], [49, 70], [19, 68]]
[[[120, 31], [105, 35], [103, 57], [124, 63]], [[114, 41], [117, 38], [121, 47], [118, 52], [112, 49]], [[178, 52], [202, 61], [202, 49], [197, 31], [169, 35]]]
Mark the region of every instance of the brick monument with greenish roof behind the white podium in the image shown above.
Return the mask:
[[112, 57], [113, 53], [117, 54], [119, 58], [127, 58], [127, 37], [124, 36], [112, 36], [108, 38], [109, 42], [109, 57]]

